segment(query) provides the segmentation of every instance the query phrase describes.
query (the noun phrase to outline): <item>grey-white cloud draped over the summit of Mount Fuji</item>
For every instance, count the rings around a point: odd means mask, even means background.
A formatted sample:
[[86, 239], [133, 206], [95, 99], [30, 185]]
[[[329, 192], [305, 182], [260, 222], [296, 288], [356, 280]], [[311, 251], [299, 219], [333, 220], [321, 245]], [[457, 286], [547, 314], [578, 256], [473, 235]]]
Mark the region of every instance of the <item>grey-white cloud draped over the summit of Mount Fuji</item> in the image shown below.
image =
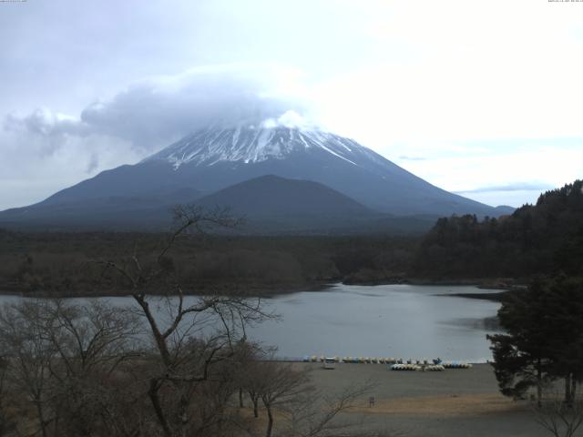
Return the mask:
[[258, 123], [287, 110], [302, 111], [290, 94], [295, 70], [274, 66], [205, 66], [143, 80], [89, 105], [83, 123], [145, 150], [168, 145], [210, 124]]

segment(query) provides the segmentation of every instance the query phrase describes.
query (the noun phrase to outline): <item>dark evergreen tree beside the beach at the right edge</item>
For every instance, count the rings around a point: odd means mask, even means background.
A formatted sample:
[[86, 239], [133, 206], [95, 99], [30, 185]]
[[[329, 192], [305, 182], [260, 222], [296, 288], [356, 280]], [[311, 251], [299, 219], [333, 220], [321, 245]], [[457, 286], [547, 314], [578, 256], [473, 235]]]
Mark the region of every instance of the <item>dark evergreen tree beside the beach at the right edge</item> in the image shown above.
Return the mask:
[[565, 380], [565, 401], [583, 377], [583, 280], [537, 280], [503, 302], [498, 318], [506, 334], [488, 336], [500, 390], [524, 397], [546, 381]]

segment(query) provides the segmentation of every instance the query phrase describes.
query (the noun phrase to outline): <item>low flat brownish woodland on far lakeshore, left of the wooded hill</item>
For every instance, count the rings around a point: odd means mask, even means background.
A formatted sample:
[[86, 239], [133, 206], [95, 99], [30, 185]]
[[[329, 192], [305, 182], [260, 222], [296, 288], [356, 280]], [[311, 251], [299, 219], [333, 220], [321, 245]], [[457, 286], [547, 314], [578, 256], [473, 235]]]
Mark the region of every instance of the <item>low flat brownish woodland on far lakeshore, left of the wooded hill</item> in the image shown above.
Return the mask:
[[[95, 260], [146, 259], [164, 234], [0, 232], [0, 291], [26, 295], [123, 292]], [[167, 261], [186, 292], [273, 294], [317, 290], [336, 281], [402, 279], [417, 239], [359, 237], [181, 237]], [[151, 260], [151, 259], [149, 259]]]

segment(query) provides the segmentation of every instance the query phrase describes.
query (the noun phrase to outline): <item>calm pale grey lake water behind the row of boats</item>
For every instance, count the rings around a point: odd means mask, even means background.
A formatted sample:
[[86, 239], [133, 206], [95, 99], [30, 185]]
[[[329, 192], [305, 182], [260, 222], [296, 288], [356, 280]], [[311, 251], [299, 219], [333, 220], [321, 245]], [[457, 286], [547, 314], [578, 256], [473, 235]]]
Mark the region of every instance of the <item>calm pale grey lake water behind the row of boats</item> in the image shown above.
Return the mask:
[[[496, 316], [499, 304], [438, 295], [488, 291], [496, 290], [339, 284], [265, 300], [281, 320], [264, 322], [248, 333], [252, 340], [277, 346], [281, 358], [324, 354], [482, 362], [491, 358], [486, 333], [493, 331], [485, 319]], [[20, 299], [1, 296], [0, 302]], [[129, 297], [100, 299], [134, 305]]]

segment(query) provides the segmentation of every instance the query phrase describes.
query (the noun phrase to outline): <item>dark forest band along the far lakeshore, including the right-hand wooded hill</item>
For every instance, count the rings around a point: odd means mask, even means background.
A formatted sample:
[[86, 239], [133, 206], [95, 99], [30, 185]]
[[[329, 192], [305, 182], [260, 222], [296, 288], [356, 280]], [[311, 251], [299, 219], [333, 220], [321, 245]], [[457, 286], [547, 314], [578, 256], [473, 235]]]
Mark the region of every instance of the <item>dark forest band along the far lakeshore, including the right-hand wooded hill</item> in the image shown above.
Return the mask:
[[[439, 219], [424, 236], [189, 234], [166, 261], [189, 294], [269, 295], [325, 284], [481, 284], [512, 288], [537, 275], [583, 276], [583, 182], [547, 191], [500, 219]], [[168, 234], [0, 229], [0, 292], [115, 295], [96, 260], [148, 259]], [[150, 259], [151, 260], [151, 259]]]

